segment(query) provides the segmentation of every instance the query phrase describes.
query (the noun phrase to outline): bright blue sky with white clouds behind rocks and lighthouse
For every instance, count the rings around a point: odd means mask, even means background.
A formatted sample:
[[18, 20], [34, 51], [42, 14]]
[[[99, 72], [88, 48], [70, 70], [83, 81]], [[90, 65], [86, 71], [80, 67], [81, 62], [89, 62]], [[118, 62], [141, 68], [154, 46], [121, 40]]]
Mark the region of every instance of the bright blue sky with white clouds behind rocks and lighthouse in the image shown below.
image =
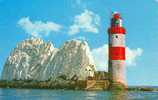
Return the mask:
[[107, 71], [107, 28], [117, 11], [126, 28], [129, 85], [158, 86], [158, 0], [0, 0], [0, 72], [16, 44], [30, 37], [56, 48], [88, 42], [98, 70]]

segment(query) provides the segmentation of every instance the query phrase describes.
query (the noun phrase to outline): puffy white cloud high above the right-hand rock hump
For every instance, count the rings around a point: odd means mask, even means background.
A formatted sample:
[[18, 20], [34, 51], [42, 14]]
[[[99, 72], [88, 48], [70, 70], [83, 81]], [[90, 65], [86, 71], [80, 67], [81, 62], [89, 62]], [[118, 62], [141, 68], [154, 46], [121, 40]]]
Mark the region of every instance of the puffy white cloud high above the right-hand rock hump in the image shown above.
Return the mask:
[[100, 17], [89, 10], [84, 10], [80, 15], [76, 15], [74, 18], [74, 24], [70, 26], [69, 34], [74, 35], [83, 32], [98, 33], [98, 27], [100, 25]]

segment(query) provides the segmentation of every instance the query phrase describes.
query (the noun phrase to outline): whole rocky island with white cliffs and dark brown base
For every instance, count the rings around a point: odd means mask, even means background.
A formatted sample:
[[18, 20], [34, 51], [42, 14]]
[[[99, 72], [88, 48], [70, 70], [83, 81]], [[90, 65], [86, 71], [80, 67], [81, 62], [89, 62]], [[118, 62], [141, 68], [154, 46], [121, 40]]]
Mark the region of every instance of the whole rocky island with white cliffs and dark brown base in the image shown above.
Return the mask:
[[108, 89], [108, 73], [96, 71], [86, 41], [69, 40], [61, 48], [31, 38], [13, 49], [4, 65], [1, 87]]

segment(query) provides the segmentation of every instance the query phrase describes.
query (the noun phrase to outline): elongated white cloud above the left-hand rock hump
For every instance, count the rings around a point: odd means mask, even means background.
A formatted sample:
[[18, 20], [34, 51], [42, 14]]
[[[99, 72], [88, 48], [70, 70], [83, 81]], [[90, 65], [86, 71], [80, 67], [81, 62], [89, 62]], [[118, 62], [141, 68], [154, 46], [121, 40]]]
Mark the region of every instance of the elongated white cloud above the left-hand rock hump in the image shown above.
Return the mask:
[[34, 37], [48, 36], [50, 32], [58, 32], [61, 29], [61, 25], [54, 22], [32, 22], [29, 17], [23, 17], [18, 21], [18, 25], [22, 27], [26, 33]]

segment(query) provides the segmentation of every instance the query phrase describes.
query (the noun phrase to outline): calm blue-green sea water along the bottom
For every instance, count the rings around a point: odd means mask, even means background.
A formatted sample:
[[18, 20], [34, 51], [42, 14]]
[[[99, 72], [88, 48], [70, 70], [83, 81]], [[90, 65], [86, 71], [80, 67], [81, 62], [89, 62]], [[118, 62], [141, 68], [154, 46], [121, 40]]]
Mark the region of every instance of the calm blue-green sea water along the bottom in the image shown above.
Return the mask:
[[0, 100], [158, 100], [158, 92], [0, 89]]

